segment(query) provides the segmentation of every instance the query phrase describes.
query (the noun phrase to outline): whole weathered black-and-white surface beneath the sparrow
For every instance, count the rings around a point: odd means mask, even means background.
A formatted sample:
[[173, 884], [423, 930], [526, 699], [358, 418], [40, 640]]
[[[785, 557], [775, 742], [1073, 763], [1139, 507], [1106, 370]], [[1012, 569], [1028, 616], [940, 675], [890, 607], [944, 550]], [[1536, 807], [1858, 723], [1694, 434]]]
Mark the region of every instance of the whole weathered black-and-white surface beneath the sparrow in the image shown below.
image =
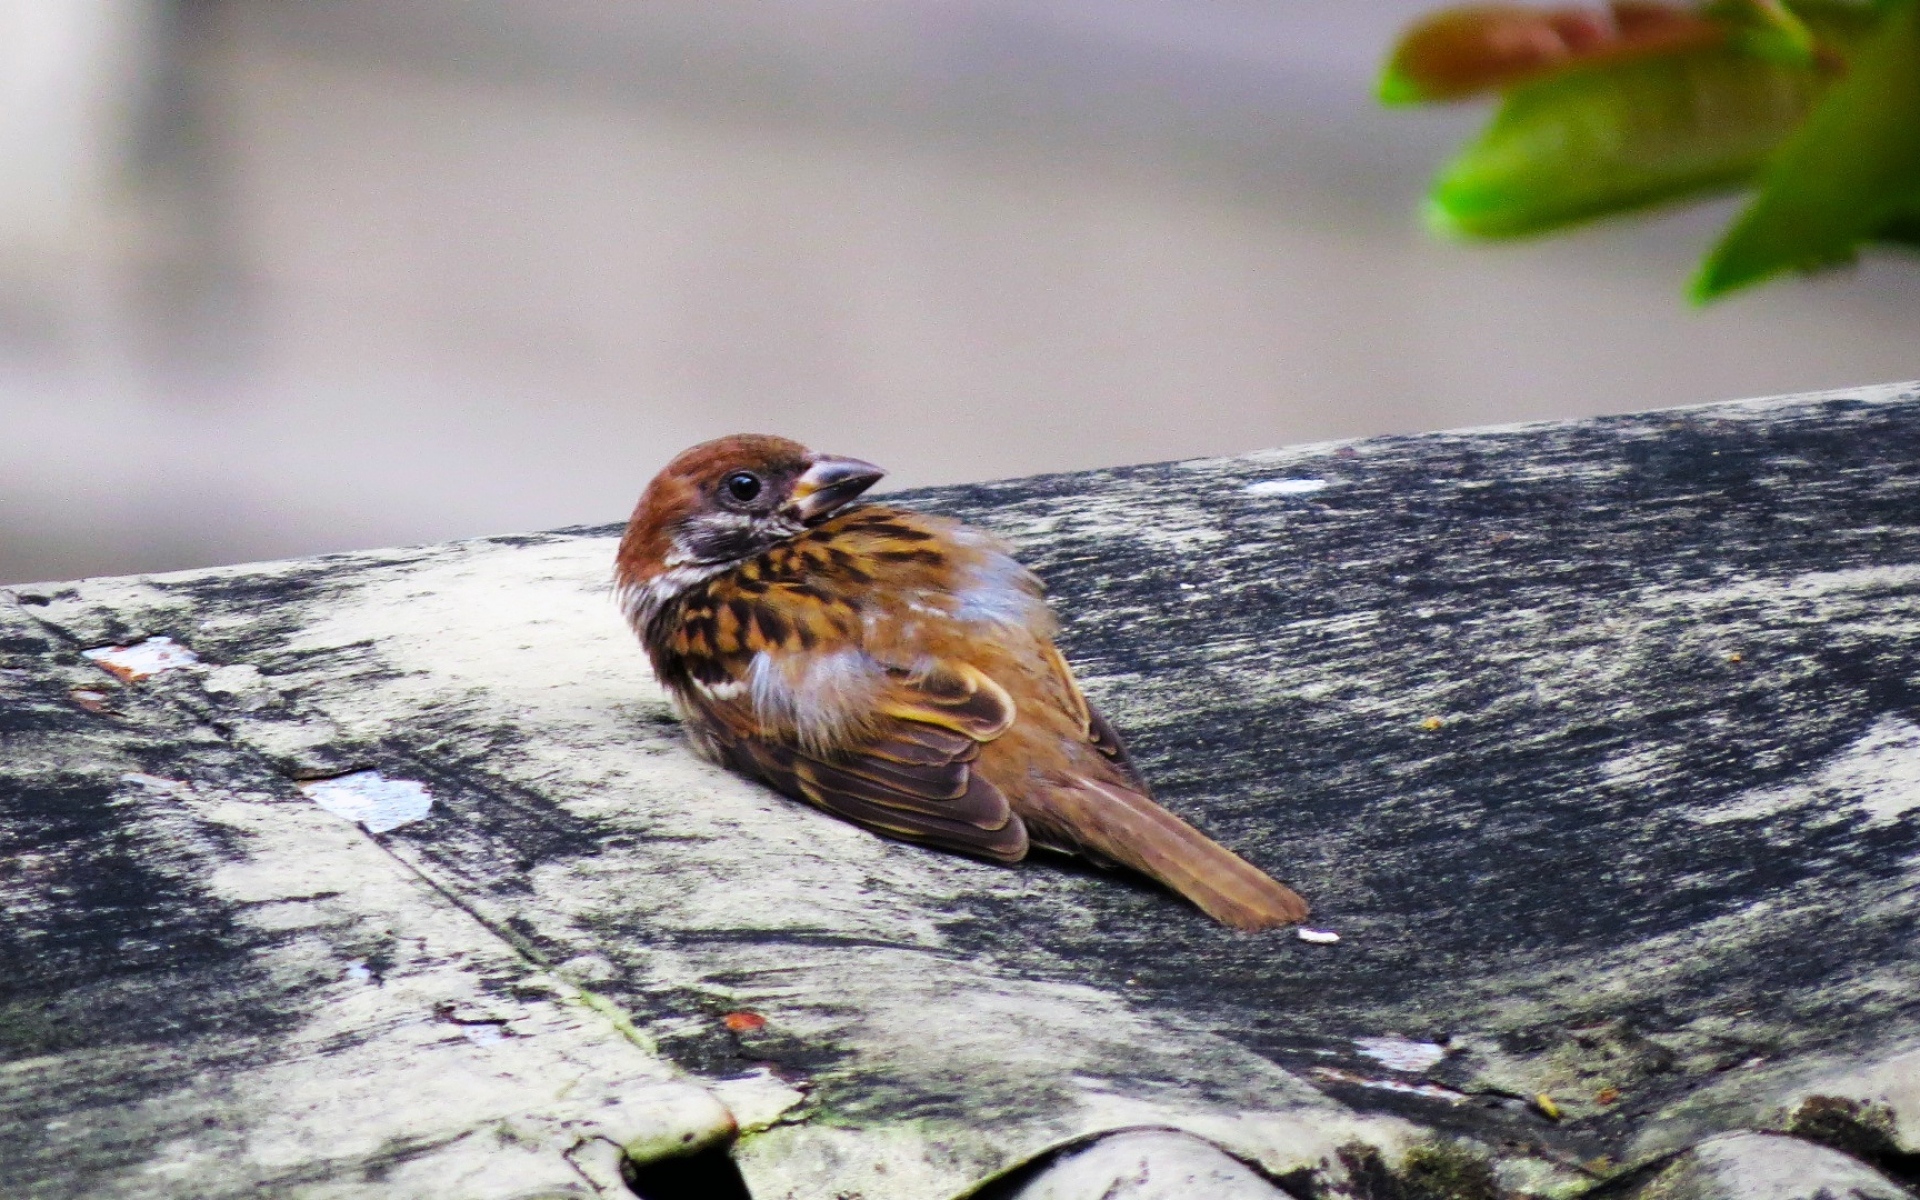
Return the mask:
[[[15, 588], [0, 1194], [620, 1194], [735, 1121], [758, 1200], [1142, 1125], [1300, 1196], [1920, 1181], [1914, 386], [912, 499], [1338, 945], [695, 760], [614, 528]], [[202, 662], [81, 657], [148, 636]], [[296, 783], [367, 768], [428, 816]]]

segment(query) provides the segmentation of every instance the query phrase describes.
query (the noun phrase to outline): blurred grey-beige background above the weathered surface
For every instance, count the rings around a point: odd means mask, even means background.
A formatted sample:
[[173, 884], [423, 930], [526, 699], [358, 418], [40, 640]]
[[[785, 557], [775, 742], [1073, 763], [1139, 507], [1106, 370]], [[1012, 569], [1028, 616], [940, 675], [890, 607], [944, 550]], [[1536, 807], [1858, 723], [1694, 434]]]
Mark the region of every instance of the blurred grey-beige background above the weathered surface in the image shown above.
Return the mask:
[[1920, 376], [1728, 207], [1444, 246], [1427, 0], [0, 0], [0, 582]]

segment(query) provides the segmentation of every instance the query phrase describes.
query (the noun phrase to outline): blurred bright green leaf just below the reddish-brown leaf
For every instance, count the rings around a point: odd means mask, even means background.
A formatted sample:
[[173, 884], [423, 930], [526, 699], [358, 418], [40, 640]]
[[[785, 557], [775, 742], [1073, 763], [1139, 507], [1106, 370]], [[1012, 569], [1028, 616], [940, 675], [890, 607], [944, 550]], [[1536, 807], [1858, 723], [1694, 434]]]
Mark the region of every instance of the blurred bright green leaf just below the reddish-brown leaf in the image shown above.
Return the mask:
[[1713, 46], [1513, 88], [1448, 163], [1428, 223], [1515, 236], [1751, 179], [1828, 77]]

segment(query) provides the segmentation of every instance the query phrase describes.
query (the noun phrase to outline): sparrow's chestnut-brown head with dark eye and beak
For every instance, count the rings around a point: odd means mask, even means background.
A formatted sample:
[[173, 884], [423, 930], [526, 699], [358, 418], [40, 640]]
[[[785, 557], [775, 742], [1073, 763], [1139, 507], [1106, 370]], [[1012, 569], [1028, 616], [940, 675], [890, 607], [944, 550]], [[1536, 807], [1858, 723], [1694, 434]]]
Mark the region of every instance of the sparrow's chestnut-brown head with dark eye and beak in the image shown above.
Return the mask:
[[733, 434], [682, 451], [653, 476], [620, 540], [628, 609], [666, 599], [839, 513], [887, 474], [799, 442]]

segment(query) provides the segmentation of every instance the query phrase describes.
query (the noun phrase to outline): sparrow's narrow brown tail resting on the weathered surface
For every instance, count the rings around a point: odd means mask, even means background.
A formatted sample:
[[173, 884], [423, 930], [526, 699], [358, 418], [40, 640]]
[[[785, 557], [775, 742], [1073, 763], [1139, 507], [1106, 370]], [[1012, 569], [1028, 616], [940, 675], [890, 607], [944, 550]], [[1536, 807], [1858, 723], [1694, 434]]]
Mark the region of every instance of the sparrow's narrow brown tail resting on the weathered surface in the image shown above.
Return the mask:
[[1308, 920], [1308, 902], [1294, 889], [1137, 791], [1081, 778], [1048, 801], [1083, 849], [1160, 879], [1223, 925], [1269, 929]]

